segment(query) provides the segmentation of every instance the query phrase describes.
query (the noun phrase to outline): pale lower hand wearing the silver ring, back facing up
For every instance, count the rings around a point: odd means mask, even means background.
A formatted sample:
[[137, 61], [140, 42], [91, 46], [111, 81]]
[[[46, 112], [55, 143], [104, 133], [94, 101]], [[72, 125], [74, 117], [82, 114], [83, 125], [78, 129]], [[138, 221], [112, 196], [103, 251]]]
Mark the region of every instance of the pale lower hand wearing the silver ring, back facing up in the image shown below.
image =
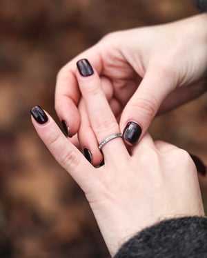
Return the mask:
[[[119, 133], [97, 72], [75, 75], [97, 142]], [[111, 255], [139, 230], [162, 219], [204, 215], [197, 171], [186, 151], [153, 142], [148, 133], [128, 149], [118, 137], [101, 149], [105, 165], [94, 168], [50, 115], [38, 107], [32, 115], [39, 137], [85, 192]]]

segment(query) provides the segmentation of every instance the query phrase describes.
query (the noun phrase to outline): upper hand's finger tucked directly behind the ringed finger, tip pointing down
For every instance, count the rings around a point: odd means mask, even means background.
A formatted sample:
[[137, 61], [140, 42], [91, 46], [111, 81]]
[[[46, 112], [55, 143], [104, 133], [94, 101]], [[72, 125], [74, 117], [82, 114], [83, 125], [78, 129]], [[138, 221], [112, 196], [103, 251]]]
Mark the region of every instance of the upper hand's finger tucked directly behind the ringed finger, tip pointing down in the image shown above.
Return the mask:
[[78, 137], [81, 144], [81, 149], [83, 150], [83, 154], [85, 155], [86, 159], [88, 159], [93, 166], [99, 166], [103, 160], [103, 155], [98, 148], [99, 144], [97, 137], [95, 136], [95, 132], [92, 130], [90, 125], [86, 105], [83, 99], [81, 99], [79, 103], [79, 112], [81, 115], [81, 124], [79, 127]]

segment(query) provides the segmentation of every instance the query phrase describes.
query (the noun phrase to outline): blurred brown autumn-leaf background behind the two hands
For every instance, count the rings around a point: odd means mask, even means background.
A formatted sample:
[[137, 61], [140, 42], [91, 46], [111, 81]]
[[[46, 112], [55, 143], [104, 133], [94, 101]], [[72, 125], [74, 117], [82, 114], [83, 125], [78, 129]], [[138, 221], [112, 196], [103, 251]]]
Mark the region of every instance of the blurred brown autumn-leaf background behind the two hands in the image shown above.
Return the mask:
[[[0, 257], [109, 257], [83, 192], [32, 128], [30, 108], [59, 123], [57, 72], [104, 34], [197, 13], [191, 0], [0, 1]], [[206, 117], [204, 95], [150, 131], [207, 163]], [[205, 201], [206, 177], [199, 180]]]

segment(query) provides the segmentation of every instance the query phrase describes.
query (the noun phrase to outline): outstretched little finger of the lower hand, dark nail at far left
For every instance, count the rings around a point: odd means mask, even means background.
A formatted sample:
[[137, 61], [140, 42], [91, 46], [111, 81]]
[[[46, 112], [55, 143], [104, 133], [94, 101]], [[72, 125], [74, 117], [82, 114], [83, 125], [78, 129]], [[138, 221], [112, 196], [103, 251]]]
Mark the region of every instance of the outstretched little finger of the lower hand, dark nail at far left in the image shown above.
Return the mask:
[[[95, 170], [75, 146], [63, 135], [55, 121], [36, 106], [31, 110], [32, 123], [52, 155], [75, 179], [84, 192], [97, 185]], [[41, 122], [41, 123], [40, 123]]]

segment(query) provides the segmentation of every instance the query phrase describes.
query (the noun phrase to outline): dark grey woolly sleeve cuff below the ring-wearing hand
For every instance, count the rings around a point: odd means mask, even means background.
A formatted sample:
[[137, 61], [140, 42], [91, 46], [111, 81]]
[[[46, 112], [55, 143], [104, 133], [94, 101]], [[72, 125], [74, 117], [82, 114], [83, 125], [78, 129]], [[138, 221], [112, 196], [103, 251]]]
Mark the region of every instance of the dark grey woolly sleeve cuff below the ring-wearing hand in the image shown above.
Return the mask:
[[124, 244], [114, 258], [206, 258], [206, 217], [161, 221]]

